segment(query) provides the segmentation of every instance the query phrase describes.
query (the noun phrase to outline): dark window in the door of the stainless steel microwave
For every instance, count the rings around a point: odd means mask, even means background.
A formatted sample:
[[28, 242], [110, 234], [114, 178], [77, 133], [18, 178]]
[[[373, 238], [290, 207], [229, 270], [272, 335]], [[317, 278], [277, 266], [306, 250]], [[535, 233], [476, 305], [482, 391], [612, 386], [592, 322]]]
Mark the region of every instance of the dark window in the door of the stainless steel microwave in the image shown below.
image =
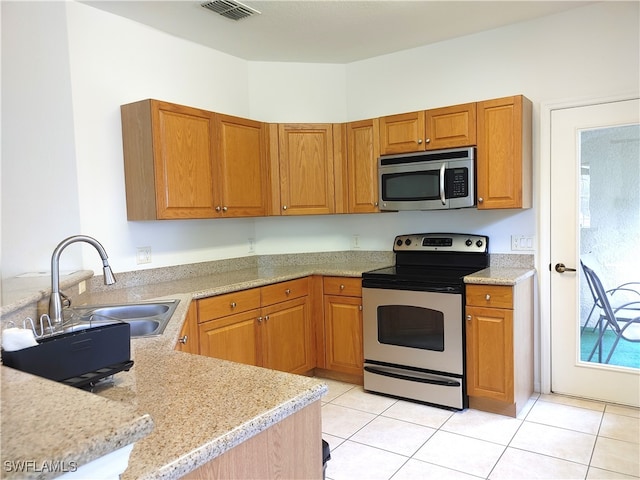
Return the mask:
[[394, 200], [437, 200], [440, 198], [440, 170], [382, 175], [382, 198]]

